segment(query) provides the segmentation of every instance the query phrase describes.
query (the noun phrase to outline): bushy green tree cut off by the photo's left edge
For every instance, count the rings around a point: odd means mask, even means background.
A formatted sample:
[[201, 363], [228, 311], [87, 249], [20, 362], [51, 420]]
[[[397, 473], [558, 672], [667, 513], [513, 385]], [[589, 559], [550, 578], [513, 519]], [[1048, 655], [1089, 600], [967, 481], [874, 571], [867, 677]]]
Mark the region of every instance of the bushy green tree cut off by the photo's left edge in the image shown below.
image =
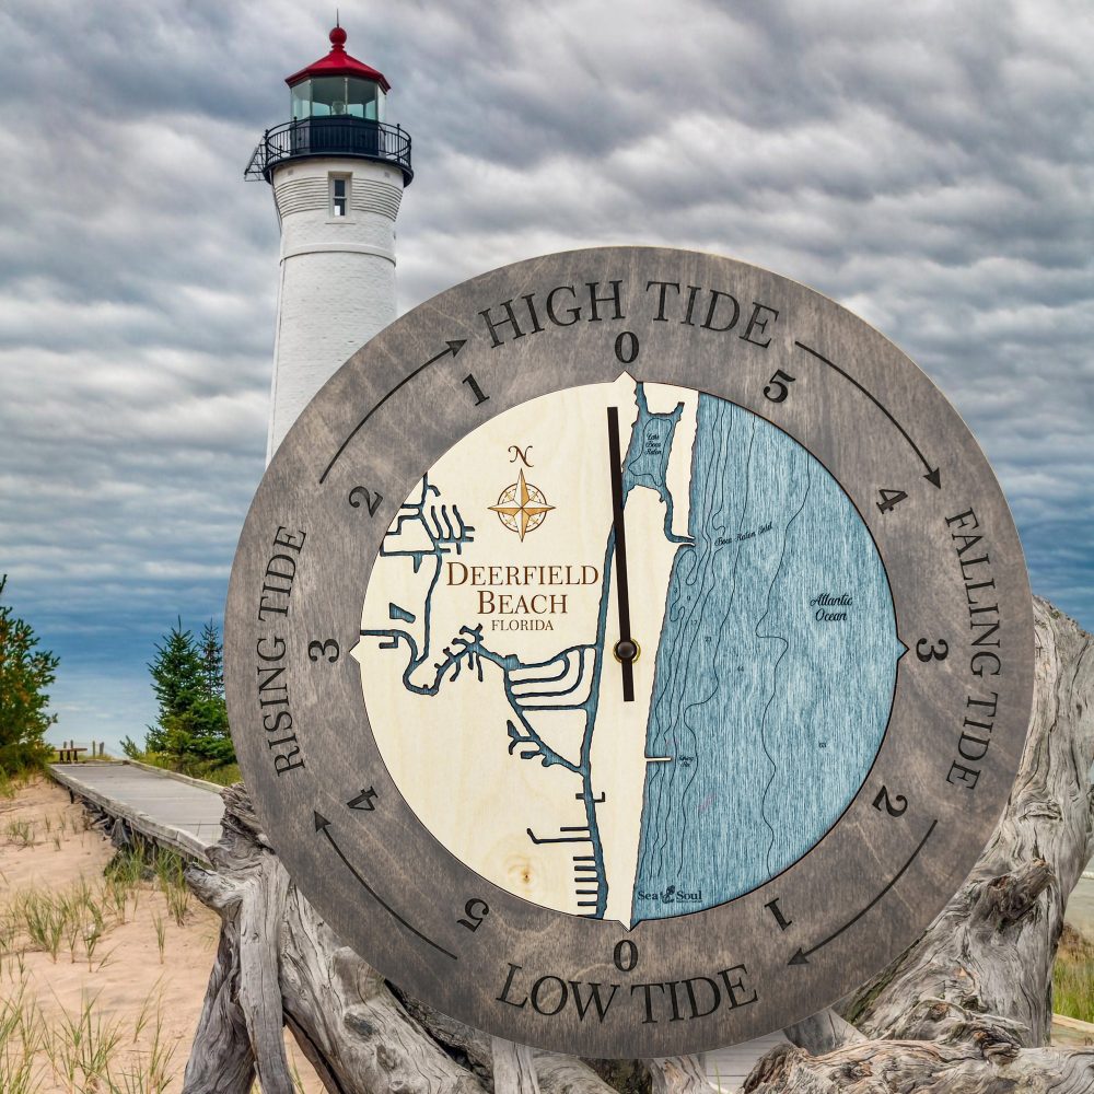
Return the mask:
[[[8, 575], [0, 577], [0, 596]], [[0, 771], [35, 766], [49, 755], [46, 730], [57, 721], [46, 712], [46, 688], [57, 678], [58, 659], [38, 650], [28, 622], [0, 604]]]

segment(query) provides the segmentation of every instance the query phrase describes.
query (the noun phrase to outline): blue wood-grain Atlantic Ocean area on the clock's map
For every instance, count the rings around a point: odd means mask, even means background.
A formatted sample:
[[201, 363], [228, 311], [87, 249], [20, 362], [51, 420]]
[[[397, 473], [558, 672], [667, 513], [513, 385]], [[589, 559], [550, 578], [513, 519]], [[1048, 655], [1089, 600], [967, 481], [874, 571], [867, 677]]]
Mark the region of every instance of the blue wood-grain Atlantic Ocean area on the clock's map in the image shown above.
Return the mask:
[[904, 651], [847, 494], [708, 395], [689, 533], [656, 651], [632, 922], [732, 899], [815, 846], [873, 764]]

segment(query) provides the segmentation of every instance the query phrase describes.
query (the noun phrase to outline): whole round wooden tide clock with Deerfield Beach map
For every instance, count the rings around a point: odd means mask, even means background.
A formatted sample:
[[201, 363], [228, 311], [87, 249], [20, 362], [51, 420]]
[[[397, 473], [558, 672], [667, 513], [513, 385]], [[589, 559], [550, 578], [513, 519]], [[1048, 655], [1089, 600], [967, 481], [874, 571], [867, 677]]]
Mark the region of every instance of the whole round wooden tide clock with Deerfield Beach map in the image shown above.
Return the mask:
[[592, 1057], [804, 1017], [907, 946], [1017, 767], [1033, 613], [968, 429], [730, 259], [549, 255], [326, 384], [232, 570], [247, 785], [338, 935]]

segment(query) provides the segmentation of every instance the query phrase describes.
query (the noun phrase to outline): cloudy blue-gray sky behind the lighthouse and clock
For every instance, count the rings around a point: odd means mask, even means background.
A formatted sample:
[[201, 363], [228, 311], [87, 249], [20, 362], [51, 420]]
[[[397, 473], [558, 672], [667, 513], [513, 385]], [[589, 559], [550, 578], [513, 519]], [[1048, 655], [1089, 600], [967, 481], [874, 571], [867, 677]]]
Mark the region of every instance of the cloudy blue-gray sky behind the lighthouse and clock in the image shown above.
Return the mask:
[[[333, 3], [0, 0], [0, 572], [55, 740], [140, 738], [261, 477], [277, 224], [243, 167]], [[1094, 629], [1089, 0], [341, 0], [416, 178], [399, 306], [575, 246], [713, 251], [857, 311], [970, 423]]]

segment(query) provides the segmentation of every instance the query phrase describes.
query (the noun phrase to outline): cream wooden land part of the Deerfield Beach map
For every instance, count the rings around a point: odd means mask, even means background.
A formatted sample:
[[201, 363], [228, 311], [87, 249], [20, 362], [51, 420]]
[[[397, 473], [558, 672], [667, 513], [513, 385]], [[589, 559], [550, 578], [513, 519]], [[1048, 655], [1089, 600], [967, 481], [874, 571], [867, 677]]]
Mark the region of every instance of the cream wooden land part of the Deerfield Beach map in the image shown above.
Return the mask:
[[[651, 412], [685, 404], [666, 479], [673, 531], [686, 535], [697, 396], [656, 386], [645, 394]], [[626, 453], [638, 408], [635, 383], [622, 375], [516, 407], [438, 461], [428, 489], [416, 489], [388, 532], [362, 613], [362, 631], [371, 633], [353, 651], [377, 745], [422, 823], [496, 884], [586, 915], [596, 896], [595, 883], [583, 880], [592, 843], [582, 778], [570, 766], [581, 766], [579, 708], [591, 698], [598, 656], [592, 647], [612, 531], [609, 406], [619, 409]], [[521, 474], [552, 507], [523, 539], [490, 509]], [[622, 922], [630, 919], [645, 723], [678, 548], [664, 534], [655, 490], [632, 489], [626, 521], [632, 632], [643, 651], [637, 701], [622, 702], [610, 654], [619, 638], [613, 573], [591, 750], [593, 795], [604, 796], [596, 824], [607, 915]], [[501, 666], [468, 655], [475, 632], [485, 650], [511, 660]], [[548, 754], [559, 761], [545, 766]]]

